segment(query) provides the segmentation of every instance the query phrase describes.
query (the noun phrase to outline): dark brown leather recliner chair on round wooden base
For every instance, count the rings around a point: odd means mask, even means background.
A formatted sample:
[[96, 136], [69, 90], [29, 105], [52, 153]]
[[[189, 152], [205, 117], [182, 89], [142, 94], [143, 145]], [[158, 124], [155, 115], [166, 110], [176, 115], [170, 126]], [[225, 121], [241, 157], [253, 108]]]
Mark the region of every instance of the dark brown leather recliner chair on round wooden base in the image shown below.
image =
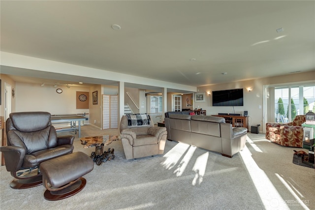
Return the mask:
[[50, 117], [48, 112], [17, 112], [6, 120], [7, 146], [0, 151], [6, 170], [16, 178], [10, 183], [12, 188], [42, 184], [40, 163], [72, 153], [74, 136], [58, 137]]

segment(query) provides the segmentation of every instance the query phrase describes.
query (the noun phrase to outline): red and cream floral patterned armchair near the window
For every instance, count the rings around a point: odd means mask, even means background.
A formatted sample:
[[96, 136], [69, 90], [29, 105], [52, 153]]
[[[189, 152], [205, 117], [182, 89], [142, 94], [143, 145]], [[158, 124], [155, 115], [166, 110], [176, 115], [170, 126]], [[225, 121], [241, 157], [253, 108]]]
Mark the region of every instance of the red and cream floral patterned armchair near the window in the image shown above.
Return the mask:
[[289, 123], [266, 123], [266, 139], [287, 147], [303, 147], [303, 127], [305, 115], [297, 115]]

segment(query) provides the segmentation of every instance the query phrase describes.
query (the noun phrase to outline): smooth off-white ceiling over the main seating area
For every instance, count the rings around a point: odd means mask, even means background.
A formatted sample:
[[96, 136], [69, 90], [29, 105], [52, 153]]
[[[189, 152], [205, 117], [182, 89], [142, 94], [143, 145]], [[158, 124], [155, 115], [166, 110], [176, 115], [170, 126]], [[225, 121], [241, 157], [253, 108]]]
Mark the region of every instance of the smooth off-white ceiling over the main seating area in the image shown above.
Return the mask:
[[313, 0], [1, 0], [0, 18], [3, 52], [189, 86], [315, 70]]

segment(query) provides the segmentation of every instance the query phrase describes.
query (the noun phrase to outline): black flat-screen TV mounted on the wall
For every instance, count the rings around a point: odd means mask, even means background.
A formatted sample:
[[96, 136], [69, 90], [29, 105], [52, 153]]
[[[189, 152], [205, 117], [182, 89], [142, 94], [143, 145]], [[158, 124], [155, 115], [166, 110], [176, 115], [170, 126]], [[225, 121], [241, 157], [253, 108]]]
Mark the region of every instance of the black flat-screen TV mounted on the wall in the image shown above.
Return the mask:
[[212, 106], [243, 106], [243, 89], [212, 91]]

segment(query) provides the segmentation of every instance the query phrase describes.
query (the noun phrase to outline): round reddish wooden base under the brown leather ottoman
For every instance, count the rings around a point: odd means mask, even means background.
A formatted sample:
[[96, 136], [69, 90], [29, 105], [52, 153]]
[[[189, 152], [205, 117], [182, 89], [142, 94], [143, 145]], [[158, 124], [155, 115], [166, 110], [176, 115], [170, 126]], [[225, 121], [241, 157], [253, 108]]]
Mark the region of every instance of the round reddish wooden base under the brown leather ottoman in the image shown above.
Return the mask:
[[81, 177], [75, 183], [71, 184], [70, 186], [64, 189], [57, 190], [57, 191], [46, 190], [44, 192], [44, 197], [48, 201], [62, 200], [64, 198], [68, 198], [80, 192], [85, 187], [86, 183], [87, 183], [87, 180]]

